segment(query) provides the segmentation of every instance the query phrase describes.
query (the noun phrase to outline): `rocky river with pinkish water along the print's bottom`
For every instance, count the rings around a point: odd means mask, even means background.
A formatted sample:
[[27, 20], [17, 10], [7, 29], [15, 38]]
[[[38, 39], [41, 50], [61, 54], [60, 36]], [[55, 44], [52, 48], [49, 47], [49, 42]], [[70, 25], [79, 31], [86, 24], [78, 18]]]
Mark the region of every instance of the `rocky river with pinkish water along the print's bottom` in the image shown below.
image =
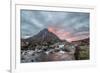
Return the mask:
[[26, 50], [21, 53], [21, 62], [47, 62], [47, 61], [68, 61], [74, 60], [74, 49], [66, 51], [63, 49], [49, 50]]

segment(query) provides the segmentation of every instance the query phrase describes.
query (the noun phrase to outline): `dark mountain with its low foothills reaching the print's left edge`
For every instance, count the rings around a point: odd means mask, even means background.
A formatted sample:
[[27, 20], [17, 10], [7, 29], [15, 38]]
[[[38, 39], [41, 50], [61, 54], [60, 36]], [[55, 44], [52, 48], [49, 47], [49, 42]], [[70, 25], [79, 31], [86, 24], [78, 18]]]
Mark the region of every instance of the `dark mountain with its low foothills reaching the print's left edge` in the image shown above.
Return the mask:
[[27, 38], [27, 39], [21, 39], [21, 46], [23, 48], [26, 46], [32, 46], [35, 45], [52, 45], [57, 42], [66, 42], [66, 40], [61, 40], [57, 35], [54, 33], [48, 31], [48, 29], [41, 30], [38, 34]]

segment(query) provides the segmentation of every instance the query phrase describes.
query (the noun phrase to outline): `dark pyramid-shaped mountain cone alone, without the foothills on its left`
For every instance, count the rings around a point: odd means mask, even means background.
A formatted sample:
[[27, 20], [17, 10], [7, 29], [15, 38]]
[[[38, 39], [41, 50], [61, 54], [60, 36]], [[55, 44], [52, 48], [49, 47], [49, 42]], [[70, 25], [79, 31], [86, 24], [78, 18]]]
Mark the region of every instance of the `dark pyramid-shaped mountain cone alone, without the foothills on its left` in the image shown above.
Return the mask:
[[43, 43], [48, 43], [48, 42], [49, 44], [54, 44], [54, 43], [62, 42], [62, 41], [66, 42], [66, 40], [61, 40], [56, 34], [50, 32], [47, 28], [44, 28], [38, 34], [34, 35], [28, 40], [32, 44], [34, 43], [43, 44]]

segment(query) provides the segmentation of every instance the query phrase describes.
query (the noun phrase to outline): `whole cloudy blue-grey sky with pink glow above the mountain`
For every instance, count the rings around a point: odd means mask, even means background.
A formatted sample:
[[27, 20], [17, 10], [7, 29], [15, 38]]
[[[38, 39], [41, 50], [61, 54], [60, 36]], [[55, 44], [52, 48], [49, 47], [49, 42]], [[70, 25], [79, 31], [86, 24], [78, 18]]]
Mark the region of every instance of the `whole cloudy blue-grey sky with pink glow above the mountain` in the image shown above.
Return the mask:
[[67, 41], [89, 37], [89, 13], [22, 9], [20, 17], [22, 38], [32, 37], [44, 28]]

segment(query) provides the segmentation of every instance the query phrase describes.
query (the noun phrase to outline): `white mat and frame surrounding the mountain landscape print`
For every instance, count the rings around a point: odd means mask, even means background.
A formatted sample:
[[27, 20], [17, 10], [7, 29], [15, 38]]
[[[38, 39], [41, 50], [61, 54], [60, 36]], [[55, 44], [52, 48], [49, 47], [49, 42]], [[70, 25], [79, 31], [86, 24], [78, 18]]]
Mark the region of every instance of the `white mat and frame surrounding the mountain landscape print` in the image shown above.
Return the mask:
[[[11, 71], [42, 71], [53, 69], [79, 68], [95, 65], [95, 9], [85, 7], [70, 6], [40, 6], [40, 5], [15, 5], [15, 12], [12, 13], [12, 59]], [[62, 62], [41, 62], [41, 63], [23, 63], [20, 64], [20, 9], [29, 10], [49, 10], [49, 11], [70, 11], [70, 12], [89, 12], [90, 13], [90, 60], [82, 61], [62, 61]]]

